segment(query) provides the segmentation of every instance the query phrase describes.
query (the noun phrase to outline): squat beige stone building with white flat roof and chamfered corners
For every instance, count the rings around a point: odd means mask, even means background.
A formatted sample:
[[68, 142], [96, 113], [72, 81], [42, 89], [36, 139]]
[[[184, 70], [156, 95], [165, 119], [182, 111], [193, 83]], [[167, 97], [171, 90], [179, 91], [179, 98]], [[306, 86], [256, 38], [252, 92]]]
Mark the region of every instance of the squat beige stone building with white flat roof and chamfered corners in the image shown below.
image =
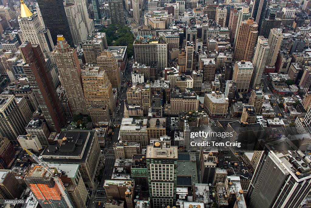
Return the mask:
[[229, 100], [219, 91], [204, 96], [204, 109], [211, 117], [226, 117]]

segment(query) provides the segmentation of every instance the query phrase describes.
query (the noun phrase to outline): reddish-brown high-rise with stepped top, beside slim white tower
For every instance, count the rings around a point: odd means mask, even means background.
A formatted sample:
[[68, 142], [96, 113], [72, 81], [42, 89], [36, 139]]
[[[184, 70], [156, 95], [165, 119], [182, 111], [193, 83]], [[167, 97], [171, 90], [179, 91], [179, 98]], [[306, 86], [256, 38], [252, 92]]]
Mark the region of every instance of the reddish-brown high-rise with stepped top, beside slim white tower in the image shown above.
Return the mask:
[[234, 60], [235, 61], [251, 61], [255, 44], [258, 38], [258, 25], [254, 22], [254, 18], [249, 17], [247, 21], [241, 21], [237, 32]]

